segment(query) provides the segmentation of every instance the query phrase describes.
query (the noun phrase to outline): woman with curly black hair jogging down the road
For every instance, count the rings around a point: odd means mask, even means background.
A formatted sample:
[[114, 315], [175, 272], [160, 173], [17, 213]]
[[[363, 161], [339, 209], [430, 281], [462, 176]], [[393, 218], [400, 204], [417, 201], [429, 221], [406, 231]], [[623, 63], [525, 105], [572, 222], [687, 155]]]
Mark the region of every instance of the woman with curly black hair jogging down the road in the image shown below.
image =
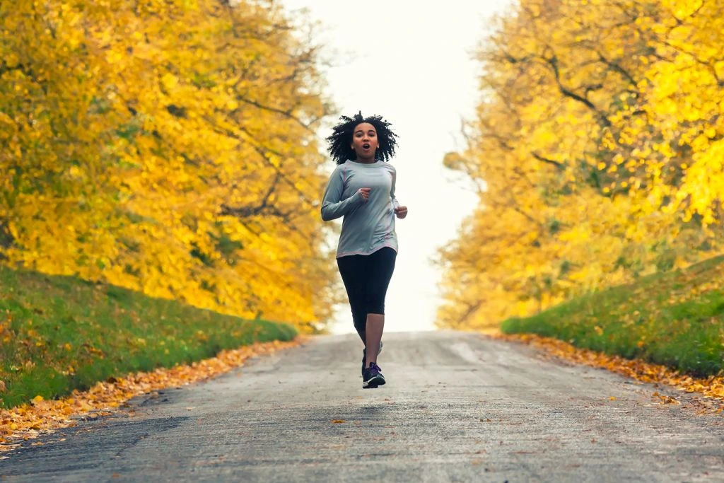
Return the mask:
[[384, 297], [395, 270], [397, 235], [395, 216], [408, 209], [395, 198], [397, 135], [380, 116], [342, 116], [327, 138], [329, 154], [337, 162], [321, 203], [321, 217], [342, 219], [337, 266], [352, 309], [352, 319], [365, 345], [362, 387], [384, 384], [377, 356], [382, 349]]

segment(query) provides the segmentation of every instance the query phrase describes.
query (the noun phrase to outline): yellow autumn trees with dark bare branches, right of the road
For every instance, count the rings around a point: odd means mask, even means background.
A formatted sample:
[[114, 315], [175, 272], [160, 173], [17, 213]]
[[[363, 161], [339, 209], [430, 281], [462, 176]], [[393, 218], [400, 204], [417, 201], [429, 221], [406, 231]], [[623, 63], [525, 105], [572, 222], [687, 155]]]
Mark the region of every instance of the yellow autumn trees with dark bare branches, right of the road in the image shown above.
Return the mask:
[[445, 164], [484, 185], [440, 252], [444, 327], [484, 327], [718, 251], [724, 4], [521, 0], [478, 51]]

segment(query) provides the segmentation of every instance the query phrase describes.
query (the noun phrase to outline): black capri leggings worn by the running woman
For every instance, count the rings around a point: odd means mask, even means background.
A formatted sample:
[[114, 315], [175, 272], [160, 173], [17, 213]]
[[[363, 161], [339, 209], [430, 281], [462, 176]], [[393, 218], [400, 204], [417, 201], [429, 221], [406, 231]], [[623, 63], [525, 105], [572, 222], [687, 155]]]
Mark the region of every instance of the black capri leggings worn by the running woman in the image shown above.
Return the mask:
[[396, 258], [395, 250], [383, 247], [369, 255], [337, 259], [357, 332], [365, 332], [367, 314], [384, 314], [384, 296], [395, 271]]

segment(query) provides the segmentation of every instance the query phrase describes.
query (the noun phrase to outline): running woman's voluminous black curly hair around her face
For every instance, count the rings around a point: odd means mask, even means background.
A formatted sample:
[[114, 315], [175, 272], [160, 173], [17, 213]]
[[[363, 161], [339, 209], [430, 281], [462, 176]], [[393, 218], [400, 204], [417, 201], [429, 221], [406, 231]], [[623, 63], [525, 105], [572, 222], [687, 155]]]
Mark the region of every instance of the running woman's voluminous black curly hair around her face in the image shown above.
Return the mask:
[[337, 164], [343, 164], [348, 159], [354, 161], [357, 159], [355, 150], [350, 147], [352, 136], [356, 126], [363, 122], [368, 122], [374, 126], [377, 131], [377, 142], [379, 146], [374, 153], [374, 159], [380, 161], [390, 161], [395, 156], [395, 148], [397, 148], [397, 135], [390, 130], [390, 122], [382, 119], [382, 116], [363, 117], [362, 112], [358, 112], [354, 117], [342, 116], [342, 122], [334, 126], [332, 135], [327, 138], [329, 143], [329, 155]]

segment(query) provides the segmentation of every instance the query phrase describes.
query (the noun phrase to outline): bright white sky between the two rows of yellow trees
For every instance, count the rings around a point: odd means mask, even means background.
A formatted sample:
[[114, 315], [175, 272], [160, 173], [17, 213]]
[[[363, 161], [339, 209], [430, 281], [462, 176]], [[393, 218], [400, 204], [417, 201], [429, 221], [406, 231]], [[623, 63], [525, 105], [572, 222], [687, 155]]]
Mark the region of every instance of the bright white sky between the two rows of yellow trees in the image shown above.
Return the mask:
[[[317, 40], [334, 64], [324, 70], [327, 93], [340, 114], [381, 114], [399, 135], [391, 161], [397, 169], [395, 194], [409, 213], [396, 220], [400, 252], [387, 291], [384, 328], [434, 329], [441, 274], [429, 259], [437, 247], [456, 238], [476, 203], [460, 175], [442, 167], [442, 158], [463, 148], [460, 120], [473, 117], [479, 99], [479, 65], [471, 54], [484, 37], [487, 18], [509, 1], [281, 4], [287, 10], [306, 8], [311, 20], [321, 22]], [[329, 172], [332, 169], [330, 161]], [[334, 333], [354, 332], [348, 306], [339, 308], [331, 328]]]

